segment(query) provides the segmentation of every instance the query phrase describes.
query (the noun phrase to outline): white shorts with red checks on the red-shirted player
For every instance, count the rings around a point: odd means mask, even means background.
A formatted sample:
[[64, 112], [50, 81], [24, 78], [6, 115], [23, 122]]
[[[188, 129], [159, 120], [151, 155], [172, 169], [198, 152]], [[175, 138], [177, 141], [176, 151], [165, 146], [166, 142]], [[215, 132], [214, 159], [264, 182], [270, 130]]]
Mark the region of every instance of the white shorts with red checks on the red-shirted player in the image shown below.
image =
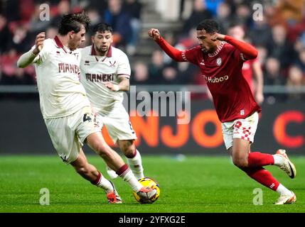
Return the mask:
[[233, 138], [240, 138], [242, 140], [254, 141], [255, 132], [258, 123], [258, 114], [248, 116], [245, 119], [236, 119], [234, 121], [222, 123], [223, 140], [225, 141], [225, 148], [228, 150], [233, 145]]

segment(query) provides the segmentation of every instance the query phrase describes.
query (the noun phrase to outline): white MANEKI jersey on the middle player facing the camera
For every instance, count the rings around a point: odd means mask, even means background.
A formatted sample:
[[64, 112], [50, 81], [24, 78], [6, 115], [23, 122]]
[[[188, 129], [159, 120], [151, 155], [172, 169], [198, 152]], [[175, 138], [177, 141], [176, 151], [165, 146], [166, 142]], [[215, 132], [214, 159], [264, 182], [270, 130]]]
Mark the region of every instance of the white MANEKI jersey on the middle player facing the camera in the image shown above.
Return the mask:
[[80, 81], [97, 112], [110, 111], [124, 99], [124, 92], [112, 92], [103, 83], [118, 84], [119, 77], [129, 79], [130, 72], [128, 57], [122, 50], [110, 47], [106, 56], [97, 56], [93, 45], [82, 49]]

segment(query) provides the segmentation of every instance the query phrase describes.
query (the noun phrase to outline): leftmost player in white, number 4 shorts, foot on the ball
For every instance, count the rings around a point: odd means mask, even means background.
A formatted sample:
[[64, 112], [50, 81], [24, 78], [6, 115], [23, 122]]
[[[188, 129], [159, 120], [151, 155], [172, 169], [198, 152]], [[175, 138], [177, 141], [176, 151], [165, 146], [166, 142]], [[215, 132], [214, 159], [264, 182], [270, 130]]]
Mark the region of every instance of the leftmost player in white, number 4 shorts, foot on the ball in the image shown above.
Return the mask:
[[142, 187], [122, 157], [105, 143], [85, 89], [80, 84], [81, 56], [77, 48], [85, 41], [89, 24], [90, 19], [85, 13], [63, 16], [58, 35], [45, 40], [46, 34], [39, 33], [33, 48], [19, 58], [17, 65], [35, 64], [41, 112], [60, 158], [73, 165], [82, 177], [104, 189], [109, 203], [122, 203], [114, 184], [87, 162], [82, 151], [83, 143], [87, 143], [134, 192], [143, 199], [151, 199], [156, 192]]

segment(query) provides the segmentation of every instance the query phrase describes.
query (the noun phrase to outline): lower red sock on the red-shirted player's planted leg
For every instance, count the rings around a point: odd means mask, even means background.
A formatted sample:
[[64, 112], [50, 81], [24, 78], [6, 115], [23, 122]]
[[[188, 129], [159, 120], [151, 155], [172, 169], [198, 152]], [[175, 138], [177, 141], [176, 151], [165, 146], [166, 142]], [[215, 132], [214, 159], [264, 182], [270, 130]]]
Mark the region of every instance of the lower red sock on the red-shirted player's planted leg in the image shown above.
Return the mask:
[[265, 170], [263, 167], [256, 167], [256, 168], [245, 168], [244, 171], [251, 177], [255, 179], [260, 184], [269, 187], [274, 191], [277, 191], [277, 187], [279, 187], [279, 182], [272, 177], [272, 174]]

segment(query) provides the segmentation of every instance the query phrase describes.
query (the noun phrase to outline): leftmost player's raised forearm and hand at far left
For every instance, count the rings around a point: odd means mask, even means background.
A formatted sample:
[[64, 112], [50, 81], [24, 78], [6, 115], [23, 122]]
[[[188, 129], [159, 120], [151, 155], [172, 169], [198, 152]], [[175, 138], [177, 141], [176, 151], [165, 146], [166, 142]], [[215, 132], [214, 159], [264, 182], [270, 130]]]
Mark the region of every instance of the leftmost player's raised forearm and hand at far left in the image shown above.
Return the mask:
[[17, 66], [20, 68], [27, 67], [28, 65], [31, 65], [33, 63], [33, 60], [38, 55], [39, 52], [41, 52], [41, 49], [43, 47], [43, 41], [45, 40], [46, 33], [39, 33], [36, 36], [35, 40], [35, 46], [36, 48], [33, 50], [29, 50], [28, 52], [24, 53], [19, 57], [17, 61]]

